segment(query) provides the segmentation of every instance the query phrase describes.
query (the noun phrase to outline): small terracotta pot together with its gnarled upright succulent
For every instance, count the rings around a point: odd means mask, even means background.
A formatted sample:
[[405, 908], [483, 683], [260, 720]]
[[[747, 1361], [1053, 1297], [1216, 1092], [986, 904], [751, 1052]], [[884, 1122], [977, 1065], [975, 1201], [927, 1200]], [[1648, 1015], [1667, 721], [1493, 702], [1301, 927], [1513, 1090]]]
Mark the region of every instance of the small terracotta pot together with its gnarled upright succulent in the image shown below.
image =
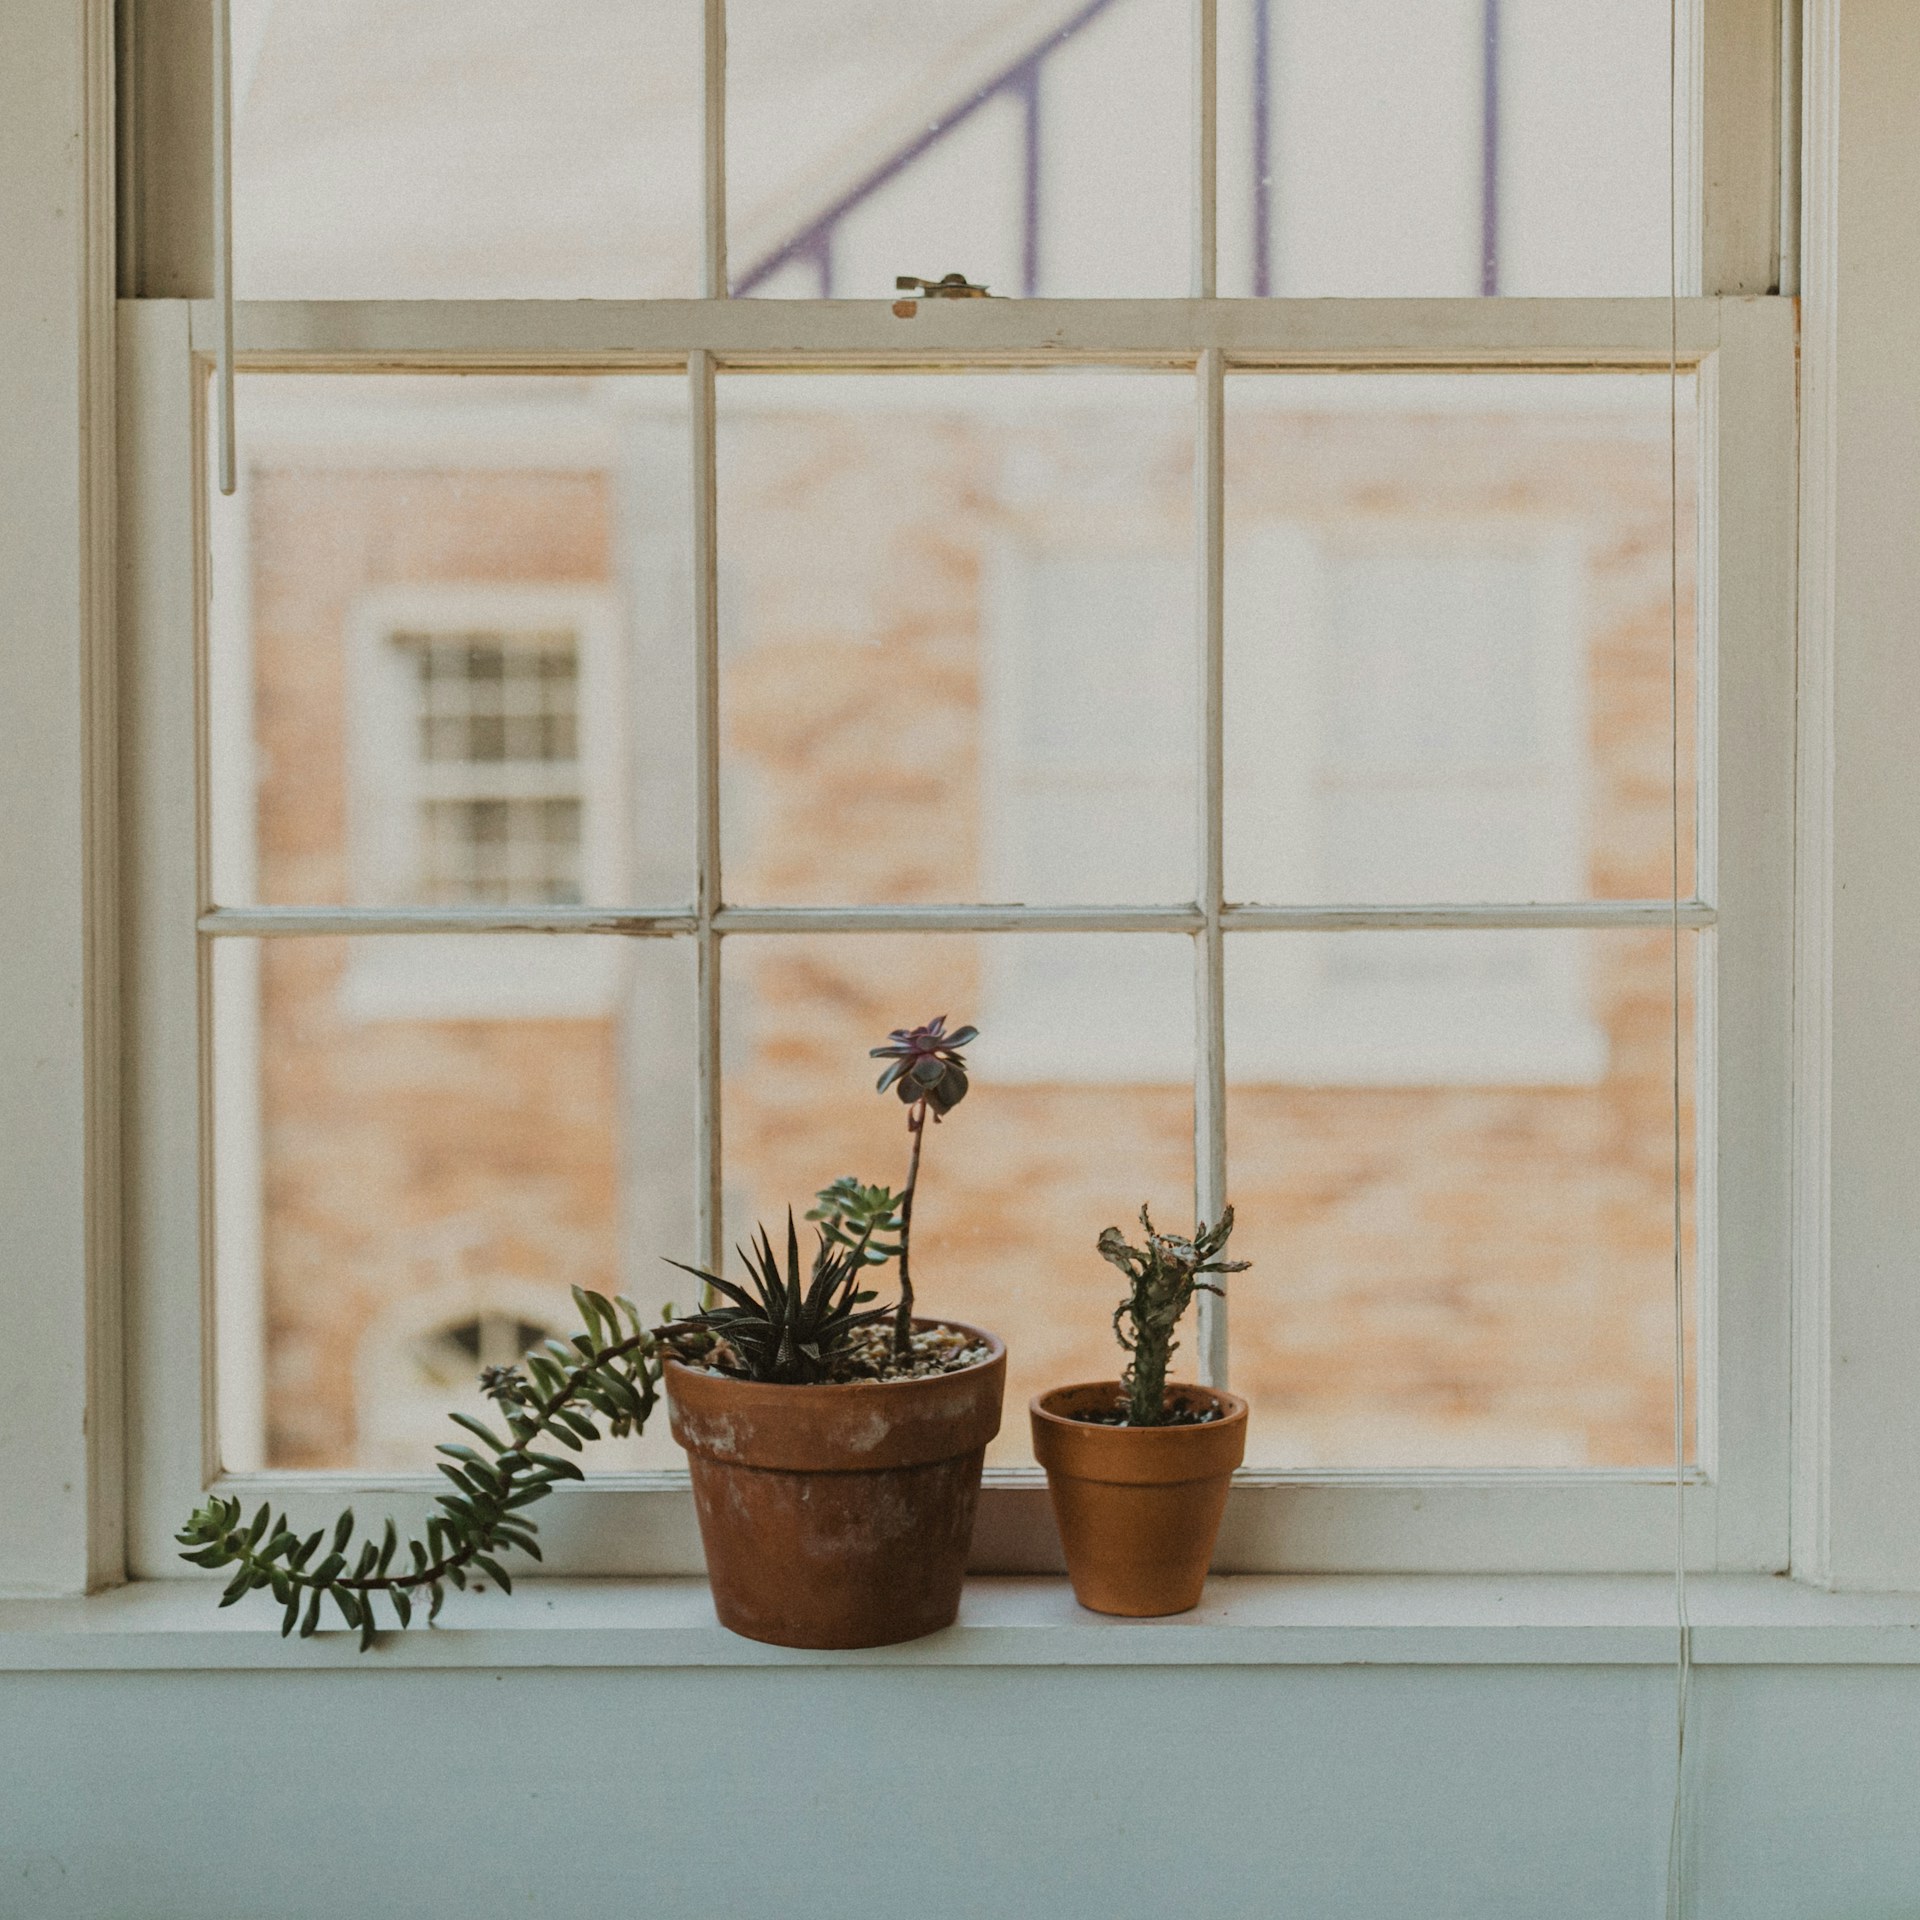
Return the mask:
[[1068, 1576], [1096, 1613], [1185, 1613], [1198, 1605], [1227, 1509], [1233, 1469], [1246, 1453], [1246, 1402], [1212, 1386], [1167, 1382], [1173, 1329], [1210, 1273], [1242, 1273], [1223, 1260], [1233, 1208], [1192, 1238], [1156, 1233], [1140, 1208], [1146, 1246], [1117, 1227], [1100, 1256], [1127, 1275], [1114, 1332], [1129, 1354], [1117, 1380], [1037, 1394], [1033, 1455], [1046, 1469]]

